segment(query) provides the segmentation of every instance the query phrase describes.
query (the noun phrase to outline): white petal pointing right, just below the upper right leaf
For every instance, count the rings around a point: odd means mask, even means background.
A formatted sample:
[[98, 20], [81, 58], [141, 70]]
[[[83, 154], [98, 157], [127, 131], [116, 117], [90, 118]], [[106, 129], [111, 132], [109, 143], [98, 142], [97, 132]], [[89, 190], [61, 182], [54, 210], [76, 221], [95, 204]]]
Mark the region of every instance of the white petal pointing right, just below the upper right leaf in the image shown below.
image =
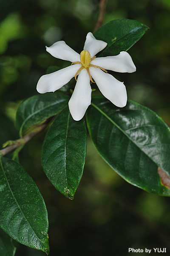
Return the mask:
[[136, 71], [136, 67], [132, 58], [127, 52], [120, 52], [116, 56], [108, 56], [95, 58], [91, 64], [102, 67], [106, 70], [112, 70], [121, 73], [132, 73]]

